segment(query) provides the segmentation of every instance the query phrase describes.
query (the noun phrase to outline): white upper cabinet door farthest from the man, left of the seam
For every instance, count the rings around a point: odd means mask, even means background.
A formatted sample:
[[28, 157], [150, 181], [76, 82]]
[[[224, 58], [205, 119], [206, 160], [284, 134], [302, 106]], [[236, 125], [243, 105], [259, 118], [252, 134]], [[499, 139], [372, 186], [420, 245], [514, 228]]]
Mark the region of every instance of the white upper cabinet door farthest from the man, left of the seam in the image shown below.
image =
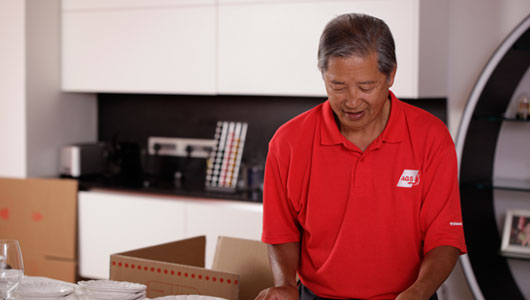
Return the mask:
[[215, 92], [215, 1], [64, 1], [66, 91]]

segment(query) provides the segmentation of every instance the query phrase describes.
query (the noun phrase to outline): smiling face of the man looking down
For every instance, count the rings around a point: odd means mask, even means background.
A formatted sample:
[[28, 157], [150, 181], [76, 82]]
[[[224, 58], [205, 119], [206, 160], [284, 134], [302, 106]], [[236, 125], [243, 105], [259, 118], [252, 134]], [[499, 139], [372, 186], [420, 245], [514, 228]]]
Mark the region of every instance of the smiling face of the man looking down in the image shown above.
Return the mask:
[[376, 53], [329, 59], [323, 77], [343, 134], [377, 130], [381, 124], [384, 127], [390, 111], [388, 89], [394, 74], [395, 69], [389, 78], [379, 72]]

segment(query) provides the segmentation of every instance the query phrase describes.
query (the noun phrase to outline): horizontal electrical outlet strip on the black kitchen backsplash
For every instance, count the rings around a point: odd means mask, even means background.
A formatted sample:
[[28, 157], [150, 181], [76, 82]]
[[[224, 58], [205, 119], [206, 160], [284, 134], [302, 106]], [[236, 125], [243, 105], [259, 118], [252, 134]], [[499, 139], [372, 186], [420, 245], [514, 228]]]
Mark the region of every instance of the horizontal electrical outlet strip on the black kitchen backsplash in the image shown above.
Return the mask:
[[208, 158], [215, 146], [215, 140], [149, 137], [149, 155]]

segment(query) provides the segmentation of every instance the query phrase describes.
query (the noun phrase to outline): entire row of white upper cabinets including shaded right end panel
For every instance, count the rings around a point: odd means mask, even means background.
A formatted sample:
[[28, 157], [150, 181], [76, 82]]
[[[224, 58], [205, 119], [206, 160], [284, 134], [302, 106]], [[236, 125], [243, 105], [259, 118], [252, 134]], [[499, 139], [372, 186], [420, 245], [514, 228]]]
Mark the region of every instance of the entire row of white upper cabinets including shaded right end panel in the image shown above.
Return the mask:
[[333, 17], [389, 25], [402, 98], [447, 96], [448, 4], [433, 0], [63, 0], [70, 91], [325, 96], [320, 34]]

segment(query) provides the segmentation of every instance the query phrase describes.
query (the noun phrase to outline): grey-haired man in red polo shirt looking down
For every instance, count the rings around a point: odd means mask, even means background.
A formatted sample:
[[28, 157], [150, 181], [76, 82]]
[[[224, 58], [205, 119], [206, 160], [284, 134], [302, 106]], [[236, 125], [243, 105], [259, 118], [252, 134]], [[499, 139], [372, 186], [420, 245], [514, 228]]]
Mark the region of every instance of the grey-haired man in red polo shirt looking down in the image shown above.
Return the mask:
[[328, 100], [269, 144], [262, 240], [275, 286], [256, 299], [436, 299], [466, 251], [447, 128], [389, 91], [382, 20], [338, 16], [318, 59]]

